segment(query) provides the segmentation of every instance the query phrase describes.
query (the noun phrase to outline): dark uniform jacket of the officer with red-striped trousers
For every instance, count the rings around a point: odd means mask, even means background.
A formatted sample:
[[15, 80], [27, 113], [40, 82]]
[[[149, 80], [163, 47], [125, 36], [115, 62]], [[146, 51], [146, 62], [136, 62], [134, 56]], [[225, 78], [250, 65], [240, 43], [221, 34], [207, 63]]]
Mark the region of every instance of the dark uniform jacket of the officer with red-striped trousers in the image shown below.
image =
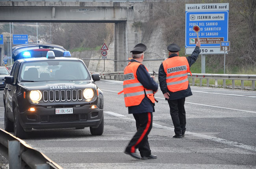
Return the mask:
[[[137, 60], [132, 59], [130, 62], [138, 62]], [[158, 90], [158, 83], [156, 83], [152, 77], [150, 77], [146, 67], [144, 65], [139, 65], [137, 72], [137, 79], [146, 89], [153, 91]], [[141, 101], [141, 104], [128, 107], [129, 114], [136, 113], [148, 113], [154, 112], [154, 104], [149, 100], [145, 94], [145, 98]]]

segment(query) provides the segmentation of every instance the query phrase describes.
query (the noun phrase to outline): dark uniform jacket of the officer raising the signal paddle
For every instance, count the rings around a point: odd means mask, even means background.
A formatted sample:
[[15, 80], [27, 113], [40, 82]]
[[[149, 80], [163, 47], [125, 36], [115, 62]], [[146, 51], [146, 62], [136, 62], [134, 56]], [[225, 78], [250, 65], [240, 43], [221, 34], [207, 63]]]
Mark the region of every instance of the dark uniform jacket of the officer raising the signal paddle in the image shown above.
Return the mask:
[[[187, 62], [189, 64], [189, 67], [191, 67], [191, 65], [196, 62], [199, 53], [200, 53], [200, 48], [198, 46], [196, 46], [192, 55], [187, 57]], [[178, 56], [178, 55], [172, 54], [169, 56], [169, 58], [174, 57], [174, 56]], [[188, 97], [188, 96], [192, 95], [189, 85], [188, 85], [187, 89], [182, 90], [182, 91], [171, 92], [167, 89], [166, 73], [163, 69], [163, 63], [159, 67], [158, 80], [159, 80], [159, 84], [160, 84], [160, 89], [163, 92], [163, 94], [169, 92], [170, 96], [169, 96], [168, 100], [176, 100], [176, 99], [180, 99], [180, 98], [184, 98], [184, 97]], [[165, 100], [167, 100], [167, 99], [165, 99]]]

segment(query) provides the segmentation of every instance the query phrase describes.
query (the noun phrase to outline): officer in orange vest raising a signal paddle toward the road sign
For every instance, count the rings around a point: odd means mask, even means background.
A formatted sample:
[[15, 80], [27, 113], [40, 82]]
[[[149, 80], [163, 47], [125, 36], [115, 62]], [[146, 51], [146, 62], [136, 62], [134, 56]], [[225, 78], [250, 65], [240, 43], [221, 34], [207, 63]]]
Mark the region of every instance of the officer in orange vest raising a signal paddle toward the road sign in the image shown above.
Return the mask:
[[192, 95], [187, 73], [191, 74], [190, 67], [200, 53], [200, 41], [197, 42], [192, 55], [187, 58], [179, 56], [180, 47], [176, 44], [169, 45], [167, 49], [169, 58], [160, 65], [158, 80], [170, 107], [175, 133], [173, 137], [182, 138], [186, 131], [185, 98]]

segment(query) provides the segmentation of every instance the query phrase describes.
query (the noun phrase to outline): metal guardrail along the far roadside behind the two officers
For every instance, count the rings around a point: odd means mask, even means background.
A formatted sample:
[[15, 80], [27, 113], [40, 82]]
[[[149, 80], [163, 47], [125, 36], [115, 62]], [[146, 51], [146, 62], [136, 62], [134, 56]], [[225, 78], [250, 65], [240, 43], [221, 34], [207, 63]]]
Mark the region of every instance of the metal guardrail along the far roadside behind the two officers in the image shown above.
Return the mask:
[[[91, 72], [97, 73], [97, 72]], [[149, 72], [150, 75], [153, 73]], [[111, 73], [99, 73], [100, 76], [104, 77], [104, 79], [114, 79], [114, 80], [123, 80], [124, 73], [123, 72], [111, 72]], [[156, 80], [158, 81], [158, 73], [155, 74]], [[241, 74], [202, 74], [202, 73], [193, 73], [190, 76], [190, 73], [187, 74], [188, 78], [192, 78], [192, 85], [195, 85], [195, 79], [199, 79], [199, 86], [202, 86], [202, 80], [206, 79], [206, 86], [210, 86], [210, 79], [215, 79], [215, 87], [219, 87], [218, 80], [223, 80], [223, 88], [226, 88], [226, 80], [232, 80], [232, 89], [235, 89], [235, 80], [241, 80], [241, 89], [245, 89], [244, 81], [250, 80], [252, 81], [252, 90], [255, 90], [255, 80], [256, 75], [241, 75]]]

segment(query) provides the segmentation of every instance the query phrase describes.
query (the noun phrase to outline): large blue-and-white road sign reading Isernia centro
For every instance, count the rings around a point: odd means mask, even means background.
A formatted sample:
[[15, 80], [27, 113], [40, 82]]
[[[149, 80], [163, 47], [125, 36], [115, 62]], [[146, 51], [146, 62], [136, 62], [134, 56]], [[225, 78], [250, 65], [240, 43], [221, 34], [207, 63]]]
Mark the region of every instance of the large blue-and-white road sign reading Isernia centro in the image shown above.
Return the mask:
[[193, 26], [198, 25], [201, 41], [200, 54], [221, 54], [220, 43], [228, 41], [228, 3], [186, 4], [185, 53], [191, 54], [197, 44], [197, 33]]

